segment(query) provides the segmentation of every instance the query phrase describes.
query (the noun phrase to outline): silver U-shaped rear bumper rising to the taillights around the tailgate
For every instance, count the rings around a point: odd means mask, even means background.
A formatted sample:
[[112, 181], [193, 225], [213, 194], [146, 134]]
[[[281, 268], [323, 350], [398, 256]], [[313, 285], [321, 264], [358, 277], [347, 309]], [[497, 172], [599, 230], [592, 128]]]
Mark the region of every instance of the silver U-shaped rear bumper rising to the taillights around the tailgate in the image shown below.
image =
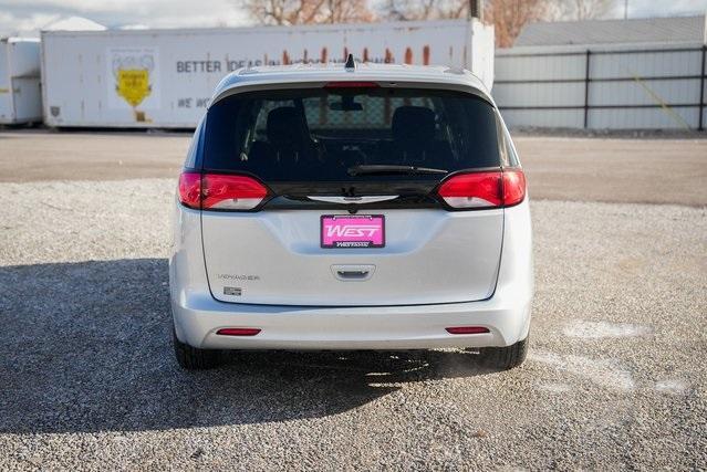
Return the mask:
[[[506, 209], [503, 249], [493, 296], [437, 305], [319, 307], [249, 305], [211, 296], [204, 270], [198, 212], [179, 210], [169, 263], [177, 337], [215, 349], [416, 349], [510, 346], [528, 336], [533, 294], [528, 201]], [[180, 221], [179, 221], [180, 220]], [[486, 334], [451, 335], [451, 326]], [[260, 328], [256, 336], [221, 336], [220, 328]]]

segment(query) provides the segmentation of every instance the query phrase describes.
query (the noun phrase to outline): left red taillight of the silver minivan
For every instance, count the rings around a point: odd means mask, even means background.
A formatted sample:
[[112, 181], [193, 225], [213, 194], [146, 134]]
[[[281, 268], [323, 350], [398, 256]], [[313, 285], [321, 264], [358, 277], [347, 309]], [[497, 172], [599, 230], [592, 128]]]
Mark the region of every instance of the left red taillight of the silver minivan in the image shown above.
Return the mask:
[[179, 201], [201, 210], [252, 210], [268, 197], [268, 188], [252, 177], [181, 172]]

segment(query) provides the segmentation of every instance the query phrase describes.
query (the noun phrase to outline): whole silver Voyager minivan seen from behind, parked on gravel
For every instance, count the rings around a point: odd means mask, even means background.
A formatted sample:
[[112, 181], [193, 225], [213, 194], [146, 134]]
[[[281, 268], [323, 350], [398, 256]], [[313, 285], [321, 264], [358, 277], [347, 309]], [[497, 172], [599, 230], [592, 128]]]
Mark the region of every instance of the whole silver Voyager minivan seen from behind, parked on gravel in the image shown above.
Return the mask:
[[194, 135], [175, 209], [185, 368], [220, 349], [475, 348], [500, 369], [526, 357], [526, 178], [466, 71], [236, 71]]

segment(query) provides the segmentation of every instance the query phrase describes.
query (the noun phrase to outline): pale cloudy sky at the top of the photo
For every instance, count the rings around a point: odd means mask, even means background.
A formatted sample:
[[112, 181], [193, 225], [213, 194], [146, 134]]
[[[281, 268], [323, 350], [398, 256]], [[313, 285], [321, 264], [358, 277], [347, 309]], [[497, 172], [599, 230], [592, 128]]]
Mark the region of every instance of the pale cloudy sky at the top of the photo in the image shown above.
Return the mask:
[[[615, 0], [623, 14], [624, 0]], [[0, 34], [38, 30], [60, 18], [85, 17], [110, 28], [246, 25], [238, 0], [0, 0]], [[628, 0], [628, 15], [700, 14], [707, 0]]]

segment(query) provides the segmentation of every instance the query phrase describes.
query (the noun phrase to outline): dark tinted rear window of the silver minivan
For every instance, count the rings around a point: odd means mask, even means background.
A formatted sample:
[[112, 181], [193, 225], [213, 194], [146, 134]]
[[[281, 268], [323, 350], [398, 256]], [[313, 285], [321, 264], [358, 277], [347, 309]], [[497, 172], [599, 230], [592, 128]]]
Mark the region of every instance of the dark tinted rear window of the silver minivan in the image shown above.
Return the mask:
[[[499, 166], [492, 106], [459, 92], [356, 87], [245, 93], [210, 107], [204, 167], [266, 181], [357, 180], [356, 166]], [[422, 178], [439, 179], [439, 175]]]

